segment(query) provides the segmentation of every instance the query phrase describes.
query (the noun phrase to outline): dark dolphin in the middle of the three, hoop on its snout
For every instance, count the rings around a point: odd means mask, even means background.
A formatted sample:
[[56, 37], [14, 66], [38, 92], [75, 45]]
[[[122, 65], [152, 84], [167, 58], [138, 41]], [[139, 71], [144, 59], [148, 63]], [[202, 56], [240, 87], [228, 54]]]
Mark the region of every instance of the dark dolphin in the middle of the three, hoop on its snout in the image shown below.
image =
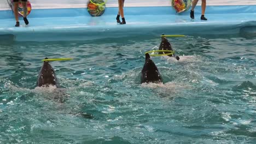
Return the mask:
[[155, 63], [146, 53], [146, 59], [143, 69], [141, 70], [141, 83], [162, 83], [162, 77], [156, 67]]

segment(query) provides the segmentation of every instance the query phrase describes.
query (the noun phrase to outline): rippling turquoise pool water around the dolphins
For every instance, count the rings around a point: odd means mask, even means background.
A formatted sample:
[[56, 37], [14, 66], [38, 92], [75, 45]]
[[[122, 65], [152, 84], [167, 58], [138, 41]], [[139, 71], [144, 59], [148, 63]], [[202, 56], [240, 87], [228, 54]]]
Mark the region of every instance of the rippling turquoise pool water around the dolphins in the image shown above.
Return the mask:
[[[169, 40], [164, 85], [139, 84], [160, 38], [0, 41], [0, 143], [256, 143], [256, 39]], [[75, 58], [51, 62], [61, 89], [35, 88], [44, 57]]]

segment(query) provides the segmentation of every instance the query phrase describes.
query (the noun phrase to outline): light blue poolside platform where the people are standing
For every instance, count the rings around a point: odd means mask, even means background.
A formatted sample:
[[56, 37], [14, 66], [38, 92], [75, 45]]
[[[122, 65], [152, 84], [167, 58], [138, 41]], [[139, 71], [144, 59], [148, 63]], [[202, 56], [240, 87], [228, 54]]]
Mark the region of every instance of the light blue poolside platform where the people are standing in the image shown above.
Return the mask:
[[14, 27], [12, 11], [5, 10], [0, 11], [0, 35], [14, 35], [10, 38], [16, 41], [86, 40], [162, 33], [255, 35], [255, 9], [256, 5], [211, 6], [207, 7], [208, 20], [201, 21], [201, 7], [196, 8], [194, 20], [190, 19], [189, 11], [176, 14], [170, 7], [125, 8], [126, 25], [116, 22], [117, 8], [107, 8], [100, 17], [92, 17], [82, 8], [40, 9], [28, 16], [28, 26], [20, 19], [20, 27]]

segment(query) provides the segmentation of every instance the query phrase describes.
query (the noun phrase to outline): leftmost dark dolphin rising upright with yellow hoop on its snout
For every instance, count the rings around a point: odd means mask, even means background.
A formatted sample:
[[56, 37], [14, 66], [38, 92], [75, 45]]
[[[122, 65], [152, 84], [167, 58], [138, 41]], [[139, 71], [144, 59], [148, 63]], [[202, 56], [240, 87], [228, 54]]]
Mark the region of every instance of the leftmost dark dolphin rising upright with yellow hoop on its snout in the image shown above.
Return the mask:
[[[48, 58], [46, 57], [45, 59]], [[49, 61], [44, 61], [44, 64], [38, 74], [37, 87], [49, 85], [57, 86], [57, 77]]]

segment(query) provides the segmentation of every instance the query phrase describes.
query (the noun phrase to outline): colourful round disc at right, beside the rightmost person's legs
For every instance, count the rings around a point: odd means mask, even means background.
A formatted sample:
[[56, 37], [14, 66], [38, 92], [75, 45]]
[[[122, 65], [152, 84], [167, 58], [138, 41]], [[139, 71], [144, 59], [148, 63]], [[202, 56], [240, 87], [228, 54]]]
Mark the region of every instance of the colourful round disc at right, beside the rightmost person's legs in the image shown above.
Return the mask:
[[177, 13], [182, 13], [189, 9], [191, 3], [191, 0], [172, 0], [172, 7], [177, 11]]

